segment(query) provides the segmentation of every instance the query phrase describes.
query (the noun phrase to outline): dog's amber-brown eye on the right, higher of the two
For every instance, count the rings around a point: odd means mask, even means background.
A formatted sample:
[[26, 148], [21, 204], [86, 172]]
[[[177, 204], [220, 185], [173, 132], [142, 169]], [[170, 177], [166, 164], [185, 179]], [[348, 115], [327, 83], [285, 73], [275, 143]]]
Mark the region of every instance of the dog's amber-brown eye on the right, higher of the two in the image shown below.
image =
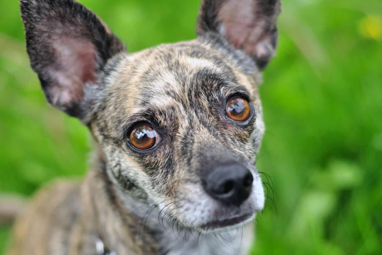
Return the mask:
[[227, 117], [234, 121], [246, 121], [251, 115], [251, 107], [242, 97], [233, 97], [227, 103]]

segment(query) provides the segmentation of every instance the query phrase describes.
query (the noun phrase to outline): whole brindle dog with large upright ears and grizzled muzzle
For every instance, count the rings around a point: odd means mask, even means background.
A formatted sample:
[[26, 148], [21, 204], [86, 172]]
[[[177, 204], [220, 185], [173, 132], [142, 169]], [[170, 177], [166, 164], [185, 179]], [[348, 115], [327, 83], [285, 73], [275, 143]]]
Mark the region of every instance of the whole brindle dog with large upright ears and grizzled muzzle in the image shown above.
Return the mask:
[[88, 127], [95, 152], [83, 181], [37, 193], [8, 254], [247, 254], [280, 0], [202, 0], [196, 39], [136, 53], [74, 0], [20, 6], [47, 101]]

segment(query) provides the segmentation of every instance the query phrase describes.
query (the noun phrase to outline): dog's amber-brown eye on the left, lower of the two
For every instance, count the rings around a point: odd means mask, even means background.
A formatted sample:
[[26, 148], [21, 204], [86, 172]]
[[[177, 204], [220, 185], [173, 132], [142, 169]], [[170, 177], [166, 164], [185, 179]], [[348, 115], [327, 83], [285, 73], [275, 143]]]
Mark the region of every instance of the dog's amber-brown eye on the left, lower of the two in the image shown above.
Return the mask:
[[129, 140], [134, 148], [138, 150], [148, 150], [160, 142], [160, 136], [151, 126], [139, 124], [131, 131]]

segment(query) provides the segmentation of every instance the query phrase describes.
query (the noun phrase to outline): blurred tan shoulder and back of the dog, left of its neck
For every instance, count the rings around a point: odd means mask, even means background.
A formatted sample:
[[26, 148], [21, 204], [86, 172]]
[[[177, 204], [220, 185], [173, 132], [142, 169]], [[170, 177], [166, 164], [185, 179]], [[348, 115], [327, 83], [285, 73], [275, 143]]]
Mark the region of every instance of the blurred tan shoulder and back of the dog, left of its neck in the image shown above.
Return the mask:
[[80, 193], [79, 182], [64, 180], [39, 190], [16, 219], [9, 255], [53, 254], [52, 250], [65, 254], [63, 249], [69, 249], [68, 237], [81, 211]]

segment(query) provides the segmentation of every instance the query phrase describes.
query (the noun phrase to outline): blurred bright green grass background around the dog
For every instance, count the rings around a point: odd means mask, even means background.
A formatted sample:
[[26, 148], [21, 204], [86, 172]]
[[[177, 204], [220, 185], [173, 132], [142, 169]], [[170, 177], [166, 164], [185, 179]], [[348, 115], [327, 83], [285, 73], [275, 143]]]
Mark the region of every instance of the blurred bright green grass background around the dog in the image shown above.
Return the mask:
[[[131, 52], [195, 37], [199, 0], [81, 0]], [[88, 132], [45, 102], [18, 1], [1, 0], [0, 192], [83, 176]], [[252, 254], [382, 254], [382, 2], [283, 1], [261, 86], [267, 208]], [[265, 176], [264, 176], [265, 179]], [[0, 253], [10, 239], [0, 229]]]

